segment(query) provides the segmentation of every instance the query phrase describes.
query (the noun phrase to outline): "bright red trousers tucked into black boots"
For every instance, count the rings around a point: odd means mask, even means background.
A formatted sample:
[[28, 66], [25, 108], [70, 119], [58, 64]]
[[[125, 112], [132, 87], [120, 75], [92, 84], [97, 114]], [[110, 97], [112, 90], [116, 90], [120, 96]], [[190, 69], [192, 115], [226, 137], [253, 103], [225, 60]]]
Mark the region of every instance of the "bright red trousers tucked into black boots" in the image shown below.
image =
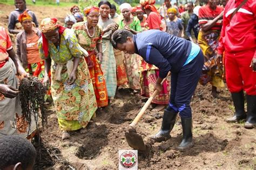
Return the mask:
[[244, 90], [248, 95], [256, 95], [256, 72], [250, 67], [253, 55], [254, 50], [225, 52], [226, 82], [230, 92]]

